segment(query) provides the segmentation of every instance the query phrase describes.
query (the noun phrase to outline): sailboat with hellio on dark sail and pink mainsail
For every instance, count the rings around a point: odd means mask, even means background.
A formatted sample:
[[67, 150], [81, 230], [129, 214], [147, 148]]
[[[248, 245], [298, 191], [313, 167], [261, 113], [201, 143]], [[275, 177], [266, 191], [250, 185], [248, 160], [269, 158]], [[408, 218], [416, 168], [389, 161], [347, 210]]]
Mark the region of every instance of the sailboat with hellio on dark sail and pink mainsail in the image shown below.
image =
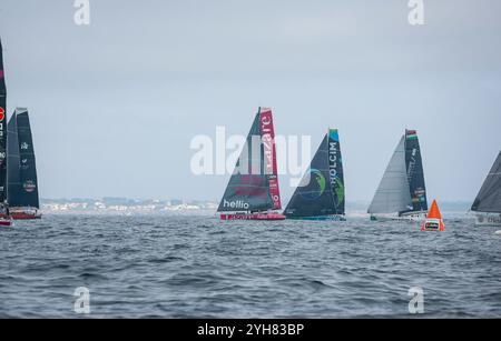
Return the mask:
[[219, 203], [222, 220], [284, 220], [269, 108], [259, 108]]

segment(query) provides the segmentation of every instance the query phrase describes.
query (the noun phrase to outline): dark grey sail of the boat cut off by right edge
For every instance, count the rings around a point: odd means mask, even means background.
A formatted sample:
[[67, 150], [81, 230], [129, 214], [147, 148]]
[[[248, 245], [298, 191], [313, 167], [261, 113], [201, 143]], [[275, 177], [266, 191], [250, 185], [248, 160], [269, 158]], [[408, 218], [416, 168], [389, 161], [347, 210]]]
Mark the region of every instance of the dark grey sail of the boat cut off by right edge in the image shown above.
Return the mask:
[[501, 213], [501, 152], [483, 182], [471, 210], [485, 213]]

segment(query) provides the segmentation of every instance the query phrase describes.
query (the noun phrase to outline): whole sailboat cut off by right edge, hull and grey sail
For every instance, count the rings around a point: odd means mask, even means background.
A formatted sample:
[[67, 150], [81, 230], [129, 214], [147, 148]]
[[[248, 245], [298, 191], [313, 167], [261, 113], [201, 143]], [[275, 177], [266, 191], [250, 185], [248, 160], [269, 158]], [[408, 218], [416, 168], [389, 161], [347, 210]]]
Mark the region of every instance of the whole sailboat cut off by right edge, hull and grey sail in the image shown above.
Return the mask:
[[501, 151], [471, 210], [475, 212], [477, 225], [501, 227]]

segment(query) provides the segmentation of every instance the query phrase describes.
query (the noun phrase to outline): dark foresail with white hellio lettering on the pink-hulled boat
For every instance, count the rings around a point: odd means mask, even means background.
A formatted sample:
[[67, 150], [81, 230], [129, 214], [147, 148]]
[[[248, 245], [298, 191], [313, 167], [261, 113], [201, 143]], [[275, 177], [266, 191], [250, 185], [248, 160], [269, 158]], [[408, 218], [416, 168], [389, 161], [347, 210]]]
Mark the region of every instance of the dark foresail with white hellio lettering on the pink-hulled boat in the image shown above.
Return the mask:
[[[276, 187], [271, 187], [271, 181], [276, 181], [276, 174], [273, 170], [266, 170], [262, 113], [271, 116], [269, 110], [259, 108], [219, 203], [218, 212], [262, 212], [279, 209], [278, 184], [276, 182]], [[274, 149], [271, 156], [274, 158]], [[274, 162], [273, 159], [268, 160]], [[278, 194], [272, 195], [274, 191]]]

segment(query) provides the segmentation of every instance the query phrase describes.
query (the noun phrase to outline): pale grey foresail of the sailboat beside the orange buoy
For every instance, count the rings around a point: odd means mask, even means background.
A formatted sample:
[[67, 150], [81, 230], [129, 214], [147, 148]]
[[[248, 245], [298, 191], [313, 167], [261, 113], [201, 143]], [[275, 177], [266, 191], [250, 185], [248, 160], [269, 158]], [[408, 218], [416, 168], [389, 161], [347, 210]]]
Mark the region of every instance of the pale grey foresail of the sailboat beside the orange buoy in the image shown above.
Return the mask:
[[412, 209], [405, 168], [405, 137], [399, 142], [374, 194], [369, 213], [395, 213]]

